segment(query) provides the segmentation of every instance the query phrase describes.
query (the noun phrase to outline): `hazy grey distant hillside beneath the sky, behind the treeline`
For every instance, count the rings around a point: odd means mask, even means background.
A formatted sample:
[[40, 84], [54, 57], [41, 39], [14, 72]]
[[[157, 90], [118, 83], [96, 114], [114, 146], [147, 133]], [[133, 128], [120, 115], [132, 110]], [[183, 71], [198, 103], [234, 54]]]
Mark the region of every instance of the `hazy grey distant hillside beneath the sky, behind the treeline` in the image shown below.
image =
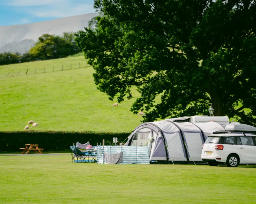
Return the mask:
[[25, 53], [42, 34], [62, 35], [63, 32], [83, 30], [88, 21], [97, 15], [89, 13], [31, 24], [0, 26], [0, 53]]

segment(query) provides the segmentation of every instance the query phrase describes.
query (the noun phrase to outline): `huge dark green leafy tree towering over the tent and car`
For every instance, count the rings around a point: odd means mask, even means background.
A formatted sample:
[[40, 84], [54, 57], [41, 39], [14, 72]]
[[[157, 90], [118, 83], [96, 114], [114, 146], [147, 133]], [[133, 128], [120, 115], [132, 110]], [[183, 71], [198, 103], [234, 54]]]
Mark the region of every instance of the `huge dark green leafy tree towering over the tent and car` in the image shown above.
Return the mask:
[[256, 125], [255, 1], [94, 0], [94, 7], [106, 16], [76, 41], [111, 100], [130, 98], [136, 86], [131, 110], [144, 107], [144, 121], [207, 114], [212, 104], [215, 116]]

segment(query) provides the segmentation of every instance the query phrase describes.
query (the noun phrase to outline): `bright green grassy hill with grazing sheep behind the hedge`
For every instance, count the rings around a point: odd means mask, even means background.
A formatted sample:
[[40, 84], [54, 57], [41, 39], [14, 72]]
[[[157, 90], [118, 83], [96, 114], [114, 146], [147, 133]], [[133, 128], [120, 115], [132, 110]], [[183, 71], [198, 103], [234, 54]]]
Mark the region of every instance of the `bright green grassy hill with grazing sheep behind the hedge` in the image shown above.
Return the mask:
[[[74, 69], [79, 63], [80, 69]], [[136, 128], [142, 118], [130, 107], [138, 96], [112, 107], [117, 101], [97, 90], [94, 70], [86, 65], [78, 55], [0, 66], [0, 131], [24, 130], [29, 120], [39, 124], [36, 130], [130, 132]]]

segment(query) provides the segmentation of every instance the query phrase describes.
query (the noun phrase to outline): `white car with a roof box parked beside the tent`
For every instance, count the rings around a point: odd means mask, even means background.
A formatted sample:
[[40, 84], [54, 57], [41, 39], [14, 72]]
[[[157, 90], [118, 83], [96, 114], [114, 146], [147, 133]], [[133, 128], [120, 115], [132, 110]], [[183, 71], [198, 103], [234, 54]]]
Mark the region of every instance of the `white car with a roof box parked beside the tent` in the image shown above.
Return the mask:
[[201, 158], [209, 166], [225, 163], [256, 164], [256, 128], [246, 124], [228, 124], [224, 131], [209, 135], [203, 145]]

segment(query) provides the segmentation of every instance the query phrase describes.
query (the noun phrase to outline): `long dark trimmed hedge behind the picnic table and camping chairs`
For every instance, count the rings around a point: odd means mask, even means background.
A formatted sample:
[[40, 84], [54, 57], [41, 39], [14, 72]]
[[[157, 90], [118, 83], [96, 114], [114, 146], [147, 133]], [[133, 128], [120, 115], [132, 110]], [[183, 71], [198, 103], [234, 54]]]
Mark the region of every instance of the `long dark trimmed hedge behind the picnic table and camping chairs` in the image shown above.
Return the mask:
[[[119, 142], [126, 140], [130, 133], [120, 132], [57, 132], [57, 131], [17, 131], [0, 132], [0, 151], [14, 152], [19, 148], [25, 147], [25, 144], [39, 144], [38, 147], [45, 151], [66, 151], [76, 142], [90, 142], [92, 146], [102, 144], [105, 139], [105, 145], [113, 142], [113, 137], [117, 137]], [[112, 144], [113, 145], [113, 144]]]

